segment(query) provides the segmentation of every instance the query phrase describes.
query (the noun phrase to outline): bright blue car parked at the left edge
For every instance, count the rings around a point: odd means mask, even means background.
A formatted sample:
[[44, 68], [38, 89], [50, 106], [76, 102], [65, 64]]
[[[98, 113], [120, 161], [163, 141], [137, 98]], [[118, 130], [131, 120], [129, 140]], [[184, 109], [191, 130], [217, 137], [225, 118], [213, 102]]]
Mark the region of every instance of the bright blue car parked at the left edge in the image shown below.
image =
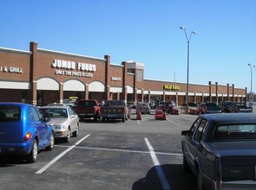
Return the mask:
[[25, 155], [31, 163], [39, 150], [52, 150], [54, 133], [48, 121], [34, 105], [0, 103], [0, 155]]

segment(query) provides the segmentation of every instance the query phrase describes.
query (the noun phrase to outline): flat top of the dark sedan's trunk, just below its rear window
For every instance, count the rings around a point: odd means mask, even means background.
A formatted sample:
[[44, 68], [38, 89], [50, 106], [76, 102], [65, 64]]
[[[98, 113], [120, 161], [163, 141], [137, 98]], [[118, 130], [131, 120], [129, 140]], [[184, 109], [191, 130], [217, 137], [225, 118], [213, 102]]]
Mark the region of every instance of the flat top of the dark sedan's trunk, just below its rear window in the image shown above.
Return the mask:
[[220, 156], [256, 156], [256, 141], [210, 142], [209, 146]]

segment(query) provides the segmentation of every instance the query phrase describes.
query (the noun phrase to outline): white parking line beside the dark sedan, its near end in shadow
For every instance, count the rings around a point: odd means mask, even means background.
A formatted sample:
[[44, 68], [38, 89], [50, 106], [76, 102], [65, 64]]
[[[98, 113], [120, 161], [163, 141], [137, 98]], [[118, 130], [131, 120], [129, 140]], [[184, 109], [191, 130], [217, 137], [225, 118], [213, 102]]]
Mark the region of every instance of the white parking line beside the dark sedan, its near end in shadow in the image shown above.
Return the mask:
[[145, 139], [146, 144], [148, 145], [148, 149], [149, 149], [150, 155], [152, 157], [152, 160], [154, 162], [154, 166], [156, 168], [156, 172], [157, 172], [157, 174], [159, 176], [159, 179], [161, 180], [161, 186], [163, 187], [164, 190], [170, 190], [171, 187], [169, 186], [169, 184], [167, 182], [167, 178], [166, 178], [165, 174], [163, 173], [163, 171], [161, 169], [160, 163], [157, 160], [156, 155], [154, 154], [153, 147], [151, 146], [150, 142], [148, 141], [148, 138], [144, 138], [144, 139]]

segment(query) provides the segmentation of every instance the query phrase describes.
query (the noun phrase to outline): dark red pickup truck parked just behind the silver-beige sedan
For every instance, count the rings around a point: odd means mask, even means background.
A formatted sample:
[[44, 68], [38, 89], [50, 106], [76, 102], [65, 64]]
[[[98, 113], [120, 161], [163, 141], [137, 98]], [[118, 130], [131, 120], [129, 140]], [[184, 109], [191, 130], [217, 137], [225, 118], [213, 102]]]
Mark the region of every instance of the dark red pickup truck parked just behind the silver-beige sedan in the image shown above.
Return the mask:
[[95, 99], [81, 99], [73, 110], [80, 119], [94, 118], [95, 121], [100, 117], [100, 105]]

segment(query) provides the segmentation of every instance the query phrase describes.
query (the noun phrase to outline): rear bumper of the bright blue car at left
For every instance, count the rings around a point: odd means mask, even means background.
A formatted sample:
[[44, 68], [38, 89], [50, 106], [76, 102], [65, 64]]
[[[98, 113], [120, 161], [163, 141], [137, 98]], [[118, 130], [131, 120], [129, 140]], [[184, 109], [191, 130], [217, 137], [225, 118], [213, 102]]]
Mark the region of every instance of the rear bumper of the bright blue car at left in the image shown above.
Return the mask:
[[0, 155], [28, 155], [30, 143], [0, 143]]

